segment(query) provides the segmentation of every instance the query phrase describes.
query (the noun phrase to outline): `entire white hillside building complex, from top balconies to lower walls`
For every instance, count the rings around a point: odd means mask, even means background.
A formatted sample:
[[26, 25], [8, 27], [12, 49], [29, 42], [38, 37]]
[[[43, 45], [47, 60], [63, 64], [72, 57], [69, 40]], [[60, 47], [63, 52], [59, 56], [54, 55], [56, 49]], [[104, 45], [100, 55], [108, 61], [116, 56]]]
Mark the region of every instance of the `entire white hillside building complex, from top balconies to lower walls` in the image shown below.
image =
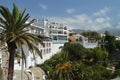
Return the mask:
[[26, 29], [29, 30], [29, 33], [42, 35], [40, 38], [43, 39], [43, 43], [45, 44], [45, 47], [38, 45], [38, 48], [42, 52], [42, 59], [38, 55], [36, 55], [34, 59], [32, 53], [27, 48], [24, 48], [27, 68], [34, 66], [35, 64], [41, 64], [45, 60], [51, 58], [60, 51], [60, 47], [63, 46], [65, 42], [68, 42], [68, 30], [66, 24], [55, 23], [43, 19], [40, 22], [31, 24], [31, 26]]

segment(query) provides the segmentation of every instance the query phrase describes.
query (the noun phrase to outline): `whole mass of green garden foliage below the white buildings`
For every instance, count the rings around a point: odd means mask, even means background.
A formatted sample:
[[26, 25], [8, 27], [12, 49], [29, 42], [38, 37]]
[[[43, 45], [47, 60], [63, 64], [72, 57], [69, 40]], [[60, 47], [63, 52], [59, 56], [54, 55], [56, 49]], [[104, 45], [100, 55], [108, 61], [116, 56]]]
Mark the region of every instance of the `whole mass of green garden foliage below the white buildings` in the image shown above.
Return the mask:
[[77, 43], [66, 43], [63, 51], [41, 67], [49, 71], [52, 80], [110, 80], [112, 73], [104, 65], [107, 59], [108, 52], [101, 48], [85, 49]]

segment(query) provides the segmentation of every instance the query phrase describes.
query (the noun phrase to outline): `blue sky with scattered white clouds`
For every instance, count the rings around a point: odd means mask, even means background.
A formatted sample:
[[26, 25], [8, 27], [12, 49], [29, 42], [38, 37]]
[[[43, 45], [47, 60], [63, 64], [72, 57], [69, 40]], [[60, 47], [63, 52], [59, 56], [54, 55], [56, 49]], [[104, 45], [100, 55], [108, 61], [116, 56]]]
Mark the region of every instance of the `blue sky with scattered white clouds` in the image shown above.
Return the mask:
[[49, 18], [73, 29], [120, 29], [120, 0], [0, 0], [10, 10], [13, 3], [31, 19]]

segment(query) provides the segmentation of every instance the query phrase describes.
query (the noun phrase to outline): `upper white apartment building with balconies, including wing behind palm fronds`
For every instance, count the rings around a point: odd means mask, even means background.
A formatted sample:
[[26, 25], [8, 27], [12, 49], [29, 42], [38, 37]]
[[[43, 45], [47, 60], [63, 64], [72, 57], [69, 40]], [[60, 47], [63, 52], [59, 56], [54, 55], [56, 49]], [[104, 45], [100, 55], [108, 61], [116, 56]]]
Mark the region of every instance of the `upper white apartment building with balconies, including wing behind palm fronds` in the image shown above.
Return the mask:
[[63, 23], [53, 22], [47, 19], [42, 19], [39, 22], [34, 22], [30, 32], [35, 34], [42, 34], [52, 39], [52, 53], [55, 54], [60, 51], [59, 47], [68, 42], [68, 25]]

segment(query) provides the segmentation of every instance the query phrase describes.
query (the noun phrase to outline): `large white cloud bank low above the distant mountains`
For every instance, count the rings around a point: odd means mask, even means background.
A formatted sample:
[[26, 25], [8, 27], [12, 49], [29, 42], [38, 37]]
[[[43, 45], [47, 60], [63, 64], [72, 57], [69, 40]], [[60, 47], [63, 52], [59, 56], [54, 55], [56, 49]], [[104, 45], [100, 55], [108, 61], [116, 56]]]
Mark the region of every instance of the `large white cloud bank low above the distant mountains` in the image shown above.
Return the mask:
[[[68, 27], [76, 28], [76, 29], [84, 29], [84, 30], [100, 30], [104, 28], [110, 28], [110, 18], [106, 16], [107, 9], [101, 9], [99, 15], [93, 16], [98, 12], [95, 12], [91, 15], [87, 14], [78, 14], [72, 17], [52, 17], [49, 18], [50, 21], [55, 21], [58, 23], [66, 23]], [[102, 16], [105, 15], [105, 16]]]

